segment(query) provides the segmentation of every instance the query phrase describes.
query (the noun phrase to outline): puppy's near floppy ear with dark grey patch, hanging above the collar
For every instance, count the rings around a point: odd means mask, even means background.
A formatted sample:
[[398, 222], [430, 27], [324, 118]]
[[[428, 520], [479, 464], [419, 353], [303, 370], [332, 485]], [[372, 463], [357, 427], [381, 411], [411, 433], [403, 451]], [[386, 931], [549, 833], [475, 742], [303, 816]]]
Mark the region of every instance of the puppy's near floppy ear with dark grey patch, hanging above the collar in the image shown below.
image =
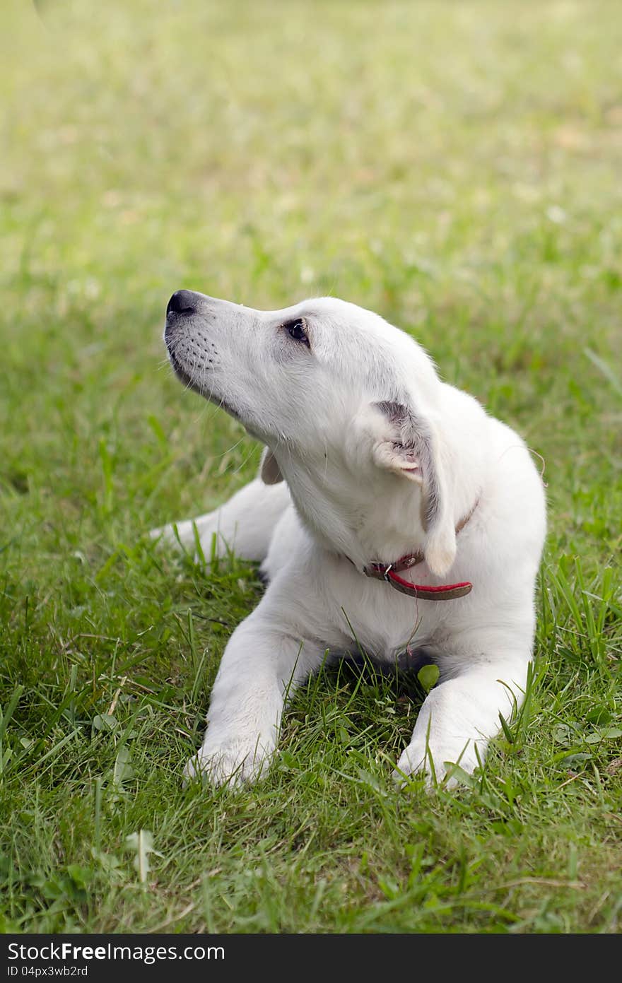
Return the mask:
[[456, 530], [438, 432], [428, 417], [403, 403], [381, 402], [373, 407], [385, 421], [373, 446], [373, 459], [378, 467], [422, 486], [425, 562], [442, 577], [456, 558]]

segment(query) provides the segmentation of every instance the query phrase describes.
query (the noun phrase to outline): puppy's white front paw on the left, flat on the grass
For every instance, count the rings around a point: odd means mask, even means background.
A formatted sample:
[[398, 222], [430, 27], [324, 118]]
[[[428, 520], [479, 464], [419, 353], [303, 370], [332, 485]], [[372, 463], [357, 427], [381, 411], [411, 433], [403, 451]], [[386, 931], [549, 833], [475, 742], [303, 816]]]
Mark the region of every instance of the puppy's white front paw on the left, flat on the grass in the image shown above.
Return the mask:
[[222, 740], [209, 735], [184, 769], [184, 779], [212, 785], [253, 783], [264, 775], [276, 742], [267, 734]]

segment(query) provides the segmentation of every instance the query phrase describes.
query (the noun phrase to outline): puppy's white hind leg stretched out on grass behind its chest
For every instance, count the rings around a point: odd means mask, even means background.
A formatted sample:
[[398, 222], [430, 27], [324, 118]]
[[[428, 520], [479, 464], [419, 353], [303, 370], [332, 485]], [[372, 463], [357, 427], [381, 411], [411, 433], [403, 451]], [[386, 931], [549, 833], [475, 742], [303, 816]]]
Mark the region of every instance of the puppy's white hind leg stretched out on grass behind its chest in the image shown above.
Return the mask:
[[[224, 556], [235, 552], [243, 559], [265, 558], [274, 528], [291, 503], [287, 485], [264, 485], [255, 478], [249, 485], [236, 492], [229, 501], [213, 512], [198, 519], [188, 519], [161, 529], [154, 529], [151, 537], [167, 543], [177, 543], [187, 549], [195, 547], [195, 527], [203, 555], [209, 559], [212, 539], [216, 537], [216, 554]], [[177, 530], [177, 535], [175, 534]]]

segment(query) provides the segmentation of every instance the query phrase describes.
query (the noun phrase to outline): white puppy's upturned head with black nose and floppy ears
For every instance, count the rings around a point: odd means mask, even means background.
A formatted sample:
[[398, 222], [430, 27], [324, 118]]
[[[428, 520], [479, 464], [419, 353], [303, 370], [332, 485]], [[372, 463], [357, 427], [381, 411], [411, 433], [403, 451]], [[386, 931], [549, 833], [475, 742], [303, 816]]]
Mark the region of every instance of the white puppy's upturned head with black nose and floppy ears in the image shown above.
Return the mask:
[[266, 445], [261, 477], [287, 481], [327, 545], [363, 564], [409, 543], [449, 569], [440, 382], [411, 337], [334, 298], [264, 312], [180, 290], [164, 339], [177, 376]]

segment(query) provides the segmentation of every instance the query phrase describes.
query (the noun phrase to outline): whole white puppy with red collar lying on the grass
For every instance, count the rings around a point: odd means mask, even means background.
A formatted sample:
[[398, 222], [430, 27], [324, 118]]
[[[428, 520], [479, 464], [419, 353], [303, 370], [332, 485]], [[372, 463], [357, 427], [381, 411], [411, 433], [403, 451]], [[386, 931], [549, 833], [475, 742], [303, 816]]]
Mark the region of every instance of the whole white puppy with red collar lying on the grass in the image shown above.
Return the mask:
[[545, 506], [523, 440], [411, 337], [334, 298], [263, 312], [180, 290], [164, 338], [182, 381], [266, 445], [260, 478], [175, 527], [269, 581], [227, 645], [187, 775], [256, 779], [287, 694], [326, 650], [357, 645], [388, 663], [422, 649], [439, 668], [397, 776], [473, 771], [532, 656]]

